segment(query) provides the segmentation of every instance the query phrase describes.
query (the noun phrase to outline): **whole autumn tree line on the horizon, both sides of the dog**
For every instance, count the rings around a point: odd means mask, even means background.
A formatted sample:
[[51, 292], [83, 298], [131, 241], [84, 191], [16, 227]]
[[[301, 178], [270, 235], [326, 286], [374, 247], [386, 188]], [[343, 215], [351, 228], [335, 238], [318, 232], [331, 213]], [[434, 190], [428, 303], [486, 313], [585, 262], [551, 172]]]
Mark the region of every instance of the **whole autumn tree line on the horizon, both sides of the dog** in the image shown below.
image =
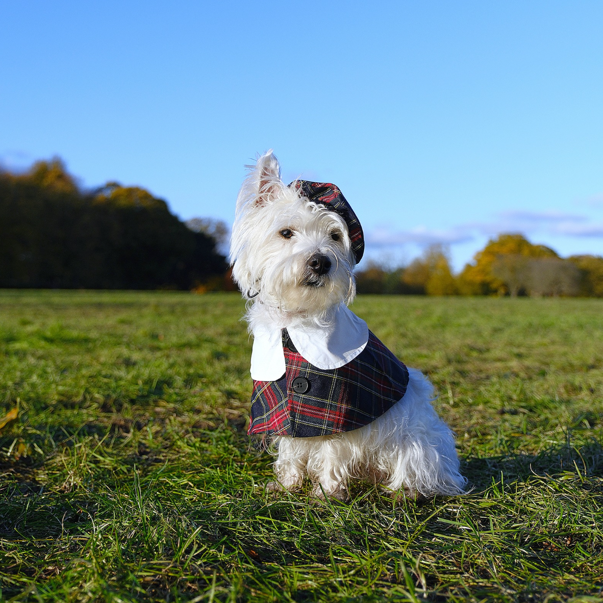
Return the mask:
[[[233, 290], [227, 236], [210, 219], [183, 223], [143, 188], [84, 190], [60, 159], [0, 170], [0, 287]], [[432, 245], [405, 267], [356, 276], [360, 293], [603, 297], [603, 257], [564, 259], [517, 234], [489, 241], [459, 274]]]

